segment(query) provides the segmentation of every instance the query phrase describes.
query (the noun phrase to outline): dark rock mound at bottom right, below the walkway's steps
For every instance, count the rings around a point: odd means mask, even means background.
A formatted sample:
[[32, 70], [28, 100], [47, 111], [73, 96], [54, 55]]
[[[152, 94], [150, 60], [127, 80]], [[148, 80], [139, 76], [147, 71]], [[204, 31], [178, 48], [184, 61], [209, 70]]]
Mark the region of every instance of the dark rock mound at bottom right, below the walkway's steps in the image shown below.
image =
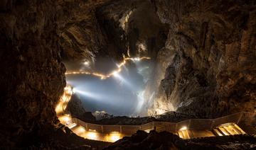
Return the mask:
[[184, 140], [169, 132], [138, 131], [105, 149], [255, 149], [256, 138], [247, 135]]

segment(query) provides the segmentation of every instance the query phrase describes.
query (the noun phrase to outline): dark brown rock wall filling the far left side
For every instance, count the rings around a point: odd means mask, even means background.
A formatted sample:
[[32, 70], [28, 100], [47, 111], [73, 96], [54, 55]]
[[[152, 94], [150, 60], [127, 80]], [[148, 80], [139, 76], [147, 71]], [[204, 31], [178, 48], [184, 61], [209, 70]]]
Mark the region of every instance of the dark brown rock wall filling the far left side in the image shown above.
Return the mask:
[[[75, 6], [90, 11], [89, 8], [102, 2], [0, 1], [1, 149], [34, 144], [43, 149], [43, 142], [48, 142], [46, 147], [56, 146], [53, 143], [58, 143], [58, 139], [49, 142], [48, 137], [60, 135], [55, 132], [61, 127], [55, 105], [65, 87], [65, 67], [60, 57], [63, 34], [68, 30], [80, 34], [74, 22], [83, 16], [78, 15], [80, 10]], [[89, 50], [85, 52], [90, 53]], [[59, 137], [68, 135], [67, 129], [63, 131]], [[75, 144], [85, 144], [75, 135], [70, 137], [72, 140], [76, 140]]]

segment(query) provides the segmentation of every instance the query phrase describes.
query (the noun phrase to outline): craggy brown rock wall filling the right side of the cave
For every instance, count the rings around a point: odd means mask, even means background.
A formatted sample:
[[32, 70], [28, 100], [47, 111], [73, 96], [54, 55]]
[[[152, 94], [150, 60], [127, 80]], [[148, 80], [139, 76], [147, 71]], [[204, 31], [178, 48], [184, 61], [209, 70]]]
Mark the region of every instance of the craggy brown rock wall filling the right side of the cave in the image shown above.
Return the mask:
[[149, 112], [199, 117], [254, 112], [255, 1], [151, 2], [170, 28], [157, 57], [153, 84], [159, 90]]

